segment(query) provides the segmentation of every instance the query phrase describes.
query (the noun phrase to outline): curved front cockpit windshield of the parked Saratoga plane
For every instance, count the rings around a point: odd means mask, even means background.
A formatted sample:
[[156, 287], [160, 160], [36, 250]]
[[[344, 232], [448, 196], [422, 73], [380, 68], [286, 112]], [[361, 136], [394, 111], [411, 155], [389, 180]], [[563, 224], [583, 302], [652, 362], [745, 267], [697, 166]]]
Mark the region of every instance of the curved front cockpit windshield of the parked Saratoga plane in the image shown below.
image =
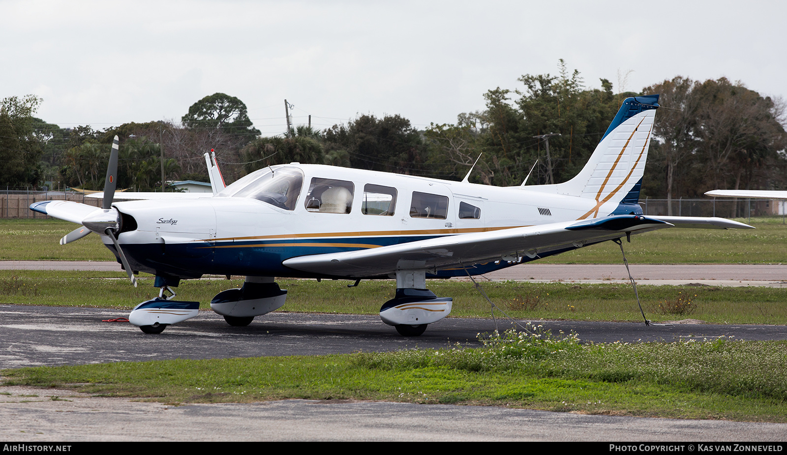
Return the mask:
[[293, 210], [302, 186], [303, 173], [297, 167], [268, 168], [261, 175], [246, 175], [216, 196], [251, 197], [285, 210]]

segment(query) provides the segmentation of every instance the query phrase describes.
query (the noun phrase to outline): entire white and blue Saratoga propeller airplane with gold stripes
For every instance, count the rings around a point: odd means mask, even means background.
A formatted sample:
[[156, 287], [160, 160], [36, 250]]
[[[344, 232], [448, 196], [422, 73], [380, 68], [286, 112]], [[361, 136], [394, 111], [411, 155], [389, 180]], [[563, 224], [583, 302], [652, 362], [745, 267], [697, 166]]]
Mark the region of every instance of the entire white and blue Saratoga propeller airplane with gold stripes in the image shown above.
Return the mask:
[[453, 303], [427, 290], [427, 277], [487, 273], [676, 225], [751, 227], [723, 218], [642, 215], [637, 200], [658, 98], [627, 98], [582, 171], [556, 185], [504, 188], [467, 177], [448, 182], [290, 163], [223, 188], [215, 157], [206, 154], [216, 194], [166, 193], [176, 200], [138, 194], [156, 199], [113, 203], [115, 138], [102, 208], [68, 201], [30, 208], [82, 225], [61, 244], [101, 235], [135, 285], [135, 272], [155, 275], [159, 298], [129, 316], [146, 333], [196, 316], [199, 303], [172, 299], [171, 288], [207, 273], [246, 276], [242, 288], [211, 302], [230, 325], [249, 325], [283, 306], [286, 290], [274, 277], [396, 278], [396, 296], [380, 317], [403, 336], [419, 336]]

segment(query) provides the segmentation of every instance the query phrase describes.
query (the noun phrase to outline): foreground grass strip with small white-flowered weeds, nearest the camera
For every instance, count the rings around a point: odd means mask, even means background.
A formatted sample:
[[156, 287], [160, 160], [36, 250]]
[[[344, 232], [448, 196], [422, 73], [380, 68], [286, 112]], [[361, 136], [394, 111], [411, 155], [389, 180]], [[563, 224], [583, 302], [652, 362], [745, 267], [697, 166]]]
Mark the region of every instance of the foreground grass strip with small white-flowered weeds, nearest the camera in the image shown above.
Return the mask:
[[506, 332], [483, 347], [5, 370], [6, 384], [168, 403], [283, 398], [503, 405], [787, 421], [787, 343], [581, 344]]

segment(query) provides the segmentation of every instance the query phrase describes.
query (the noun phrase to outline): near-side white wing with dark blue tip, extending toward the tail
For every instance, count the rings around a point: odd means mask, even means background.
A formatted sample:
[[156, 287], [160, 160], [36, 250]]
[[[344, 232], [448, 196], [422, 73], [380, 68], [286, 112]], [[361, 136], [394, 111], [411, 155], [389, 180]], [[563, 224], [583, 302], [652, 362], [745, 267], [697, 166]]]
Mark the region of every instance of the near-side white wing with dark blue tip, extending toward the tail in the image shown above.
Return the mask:
[[[358, 251], [286, 259], [284, 266], [338, 277], [373, 277], [396, 270], [441, 270], [497, 260], [536, 257], [604, 240], [673, 226], [656, 218], [620, 215], [419, 240]], [[743, 225], [745, 226], [745, 225]], [[511, 258], [511, 259], [508, 259]]]

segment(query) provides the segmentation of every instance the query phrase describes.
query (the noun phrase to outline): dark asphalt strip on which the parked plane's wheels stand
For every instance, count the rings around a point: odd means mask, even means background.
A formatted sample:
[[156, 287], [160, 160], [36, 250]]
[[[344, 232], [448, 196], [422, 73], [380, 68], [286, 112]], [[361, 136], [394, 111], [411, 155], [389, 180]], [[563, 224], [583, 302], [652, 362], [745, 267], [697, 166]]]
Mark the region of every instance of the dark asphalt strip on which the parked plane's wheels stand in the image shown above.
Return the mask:
[[[478, 333], [504, 331], [528, 321], [449, 317], [422, 336], [405, 338], [377, 316], [269, 313], [248, 327], [231, 327], [210, 310], [146, 335], [128, 322], [127, 311], [64, 306], [0, 305], [0, 368], [55, 366], [108, 361], [173, 358], [232, 358], [271, 355], [347, 354], [412, 347], [439, 348], [454, 343], [478, 345]], [[787, 339], [784, 325], [710, 325], [677, 321], [643, 322], [530, 321], [553, 333], [575, 332], [594, 343], [637, 343], [677, 339]]]

